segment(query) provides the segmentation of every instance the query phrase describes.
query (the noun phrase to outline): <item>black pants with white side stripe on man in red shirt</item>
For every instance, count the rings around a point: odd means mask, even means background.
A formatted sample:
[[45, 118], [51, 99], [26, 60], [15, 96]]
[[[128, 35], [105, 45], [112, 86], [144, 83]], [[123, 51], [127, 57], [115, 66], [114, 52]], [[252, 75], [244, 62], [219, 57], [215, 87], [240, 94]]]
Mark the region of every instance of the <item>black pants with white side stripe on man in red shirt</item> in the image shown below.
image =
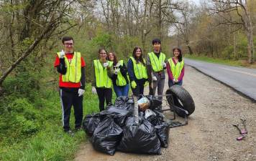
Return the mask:
[[72, 105], [75, 115], [75, 127], [81, 127], [83, 121], [83, 96], [78, 97], [78, 89], [60, 89], [60, 104], [63, 112], [63, 129], [70, 129], [69, 118]]

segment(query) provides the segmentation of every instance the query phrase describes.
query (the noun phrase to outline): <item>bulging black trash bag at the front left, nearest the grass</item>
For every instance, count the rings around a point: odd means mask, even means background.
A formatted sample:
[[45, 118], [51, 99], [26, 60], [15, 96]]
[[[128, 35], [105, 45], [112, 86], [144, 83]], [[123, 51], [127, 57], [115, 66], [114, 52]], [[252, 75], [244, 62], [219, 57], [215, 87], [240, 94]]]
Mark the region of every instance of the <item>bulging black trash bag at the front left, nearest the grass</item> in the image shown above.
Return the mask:
[[122, 139], [122, 132], [122, 128], [116, 125], [112, 116], [105, 117], [93, 133], [93, 148], [99, 152], [114, 155], [116, 146]]

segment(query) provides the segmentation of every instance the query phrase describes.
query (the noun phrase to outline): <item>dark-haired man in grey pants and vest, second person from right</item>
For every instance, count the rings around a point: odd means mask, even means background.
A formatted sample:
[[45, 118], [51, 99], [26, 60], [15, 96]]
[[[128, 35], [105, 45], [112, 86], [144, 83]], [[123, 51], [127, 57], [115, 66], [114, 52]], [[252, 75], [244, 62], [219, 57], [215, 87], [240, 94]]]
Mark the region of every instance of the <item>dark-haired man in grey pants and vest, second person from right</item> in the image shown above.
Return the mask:
[[[163, 87], [165, 86], [165, 54], [161, 52], [160, 39], [152, 40], [153, 52], [147, 54], [147, 74], [150, 80], [150, 95], [163, 94]], [[163, 97], [159, 97], [163, 99]]]

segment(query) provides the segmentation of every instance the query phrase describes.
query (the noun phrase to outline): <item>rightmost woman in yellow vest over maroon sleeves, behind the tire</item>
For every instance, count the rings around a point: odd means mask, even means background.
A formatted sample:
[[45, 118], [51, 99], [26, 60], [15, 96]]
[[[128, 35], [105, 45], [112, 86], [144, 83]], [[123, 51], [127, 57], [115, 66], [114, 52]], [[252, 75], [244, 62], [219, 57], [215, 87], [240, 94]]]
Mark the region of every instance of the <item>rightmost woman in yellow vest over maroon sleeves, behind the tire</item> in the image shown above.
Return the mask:
[[178, 47], [173, 48], [173, 56], [166, 63], [169, 87], [172, 87], [174, 84], [181, 86], [184, 77], [184, 60], [181, 49]]

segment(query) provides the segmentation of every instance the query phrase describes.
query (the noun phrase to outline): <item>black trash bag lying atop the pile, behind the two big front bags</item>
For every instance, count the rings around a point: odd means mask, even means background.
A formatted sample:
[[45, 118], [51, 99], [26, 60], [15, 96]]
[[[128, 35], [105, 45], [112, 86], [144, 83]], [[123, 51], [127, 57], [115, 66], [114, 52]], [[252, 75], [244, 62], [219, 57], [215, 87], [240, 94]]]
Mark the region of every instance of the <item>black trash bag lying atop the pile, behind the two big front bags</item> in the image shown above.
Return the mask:
[[115, 106], [109, 106], [106, 110], [100, 112], [101, 120], [104, 119], [107, 115], [114, 115], [114, 121], [119, 126], [124, 126], [127, 117], [132, 116], [132, 112], [126, 109], [119, 109]]

